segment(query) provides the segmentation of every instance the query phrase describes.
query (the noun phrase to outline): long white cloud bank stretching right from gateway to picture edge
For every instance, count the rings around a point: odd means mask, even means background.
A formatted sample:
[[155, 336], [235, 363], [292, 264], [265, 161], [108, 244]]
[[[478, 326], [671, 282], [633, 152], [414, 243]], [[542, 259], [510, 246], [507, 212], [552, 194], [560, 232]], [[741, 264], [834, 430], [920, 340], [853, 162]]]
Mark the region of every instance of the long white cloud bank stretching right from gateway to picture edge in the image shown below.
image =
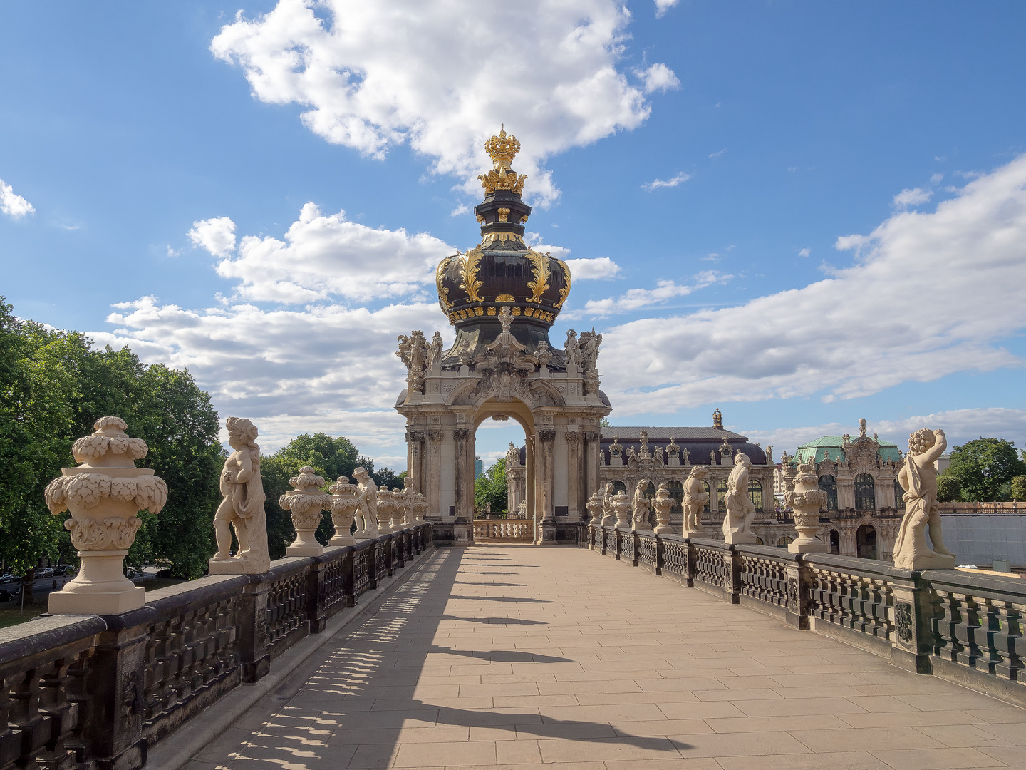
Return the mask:
[[827, 280], [607, 330], [603, 373], [618, 412], [849, 398], [1026, 363], [1001, 346], [1026, 328], [1026, 156], [933, 213], [897, 213], [836, 245], [856, 260]]

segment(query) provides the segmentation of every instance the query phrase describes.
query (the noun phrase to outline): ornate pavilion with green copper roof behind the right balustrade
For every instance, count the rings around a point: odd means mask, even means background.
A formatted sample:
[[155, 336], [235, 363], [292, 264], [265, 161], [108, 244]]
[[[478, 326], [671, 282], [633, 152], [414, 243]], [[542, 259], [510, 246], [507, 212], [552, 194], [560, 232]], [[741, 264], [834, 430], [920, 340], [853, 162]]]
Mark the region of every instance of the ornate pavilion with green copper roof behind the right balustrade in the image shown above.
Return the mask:
[[774, 492], [793, 491], [799, 463], [816, 468], [819, 488], [827, 493], [820, 511], [821, 538], [833, 553], [891, 561], [895, 538], [905, 512], [898, 484], [902, 451], [897, 445], [866, 434], [859, 420], [854, 438], [826, 435], [799, 447], [794, 457], [785, 453], [775, 471]]

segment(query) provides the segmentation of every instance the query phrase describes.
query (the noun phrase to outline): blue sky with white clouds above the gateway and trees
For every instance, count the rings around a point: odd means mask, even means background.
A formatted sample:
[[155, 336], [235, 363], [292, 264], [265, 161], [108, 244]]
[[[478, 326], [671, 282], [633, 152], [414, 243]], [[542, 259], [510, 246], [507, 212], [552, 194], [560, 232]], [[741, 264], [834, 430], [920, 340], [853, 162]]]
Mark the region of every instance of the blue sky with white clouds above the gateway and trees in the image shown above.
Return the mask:
[[449, 334], [430, 265], [505, 123], [537, 243], [599, 261], [552, 338], [603, 333], [614, 424], [1022, 446], [1022, 3], [241, 7], [0, 6], [21, 315], [401, 467], [395, 336]]

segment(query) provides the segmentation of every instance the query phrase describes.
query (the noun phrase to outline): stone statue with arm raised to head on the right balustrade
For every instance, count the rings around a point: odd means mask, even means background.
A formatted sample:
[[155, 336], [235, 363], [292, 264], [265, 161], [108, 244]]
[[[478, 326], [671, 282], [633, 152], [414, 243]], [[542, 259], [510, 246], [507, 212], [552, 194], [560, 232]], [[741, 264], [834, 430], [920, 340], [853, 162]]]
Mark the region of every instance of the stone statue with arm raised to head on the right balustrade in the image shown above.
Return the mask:
[[[904, 570], [953, 569], [955, 555], [944, 547], [941, 513], [937, 502], [937, 469], [934, 461], [944, 454], [948, 439], [943, 430], [921, 428], [909, 436], [908, 455], [898, 472], [905, 490], [905, 515], [895, 539], [895, 567]], [[926, 528], [933, 550], [926, 545]]]

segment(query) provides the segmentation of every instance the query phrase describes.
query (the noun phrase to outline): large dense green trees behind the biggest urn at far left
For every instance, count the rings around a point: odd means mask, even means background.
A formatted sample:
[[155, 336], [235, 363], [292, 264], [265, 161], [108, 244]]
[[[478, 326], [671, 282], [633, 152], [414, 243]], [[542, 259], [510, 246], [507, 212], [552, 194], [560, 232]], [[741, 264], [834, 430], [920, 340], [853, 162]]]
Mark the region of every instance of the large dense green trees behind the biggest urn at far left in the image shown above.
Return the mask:
[[188, 371], [147, 365], [131, 350], [96, 350], [78, 332], [18, 318], [0, 299], [0, 557], [26, 575], [41, 559], [74, 562], [43, 490], [75, 465], [71, 446], [115, 415], [150, 448], [142, 467], [168, 488], [159, 515], [143, 513], [128, 563], [158, 561], [170, 574], [199, 577], [212, 553], [210, 518], [224, 451], [218, 414]]

